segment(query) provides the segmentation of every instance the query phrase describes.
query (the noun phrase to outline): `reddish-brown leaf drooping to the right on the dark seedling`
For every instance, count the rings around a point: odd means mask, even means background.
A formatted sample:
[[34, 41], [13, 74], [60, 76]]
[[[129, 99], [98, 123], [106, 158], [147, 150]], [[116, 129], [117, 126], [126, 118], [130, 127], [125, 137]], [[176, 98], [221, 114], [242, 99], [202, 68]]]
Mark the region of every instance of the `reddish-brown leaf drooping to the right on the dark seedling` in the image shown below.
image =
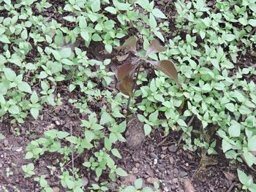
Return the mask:
[[149, 61], [156, 69], [166, 74], [171, 79], [175, 80], [177, 85], [180, 87], [181, 84], [178, 82], [178, 72], [172, 61]]

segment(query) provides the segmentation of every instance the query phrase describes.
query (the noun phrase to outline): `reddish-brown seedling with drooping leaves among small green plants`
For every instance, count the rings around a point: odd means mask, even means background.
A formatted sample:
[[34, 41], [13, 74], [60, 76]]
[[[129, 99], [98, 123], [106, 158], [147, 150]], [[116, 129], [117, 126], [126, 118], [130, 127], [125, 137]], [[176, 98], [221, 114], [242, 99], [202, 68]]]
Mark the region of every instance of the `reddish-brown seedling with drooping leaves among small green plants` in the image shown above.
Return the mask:
[[[157, 58], [157, 55], [155, 53], [163, 52], [167, 50], [167, 47], [163, 47], [162, 45], [160, 45], [157, 39], [154, 39], [151, 42], [151, 44], [148, 45], [148, 48], [146, 50], [137, 50], [137, 41], [137, 37], [129, 37], [123, 45], [121, 45], [120, 47], [115, 47], [116, 50], [126, 50], [128, 52], [126, 55], [119, 56], [118, 61], [126, 60], [126, 58], [128, 58], [129, 56], [129, 53], [133, 53], [131, 61], [125, 62], [124, 64], [119, 66], [116, 72], [116, 77], [118, 80], [118, 89], [121, 91], [121, 93], [124, 93], [127, 96], [129, 96], [127, 109], [129, 109], [129, 101], [133, 97], [133, 89], [138, 79], [138, 73], [140, 72], [140, 66], [142, 62], [151, 64], [156, 69], [165, 73], [171, 79], [175, 80], [177, 85], [180, 86], [178, 82], [178, 73], [172, 61], [152, 61], [151, 59], [149, 59], [149, 57]], [[133, 79], [135, 76], [136, 69], [137, 75], [134, 81]]]

